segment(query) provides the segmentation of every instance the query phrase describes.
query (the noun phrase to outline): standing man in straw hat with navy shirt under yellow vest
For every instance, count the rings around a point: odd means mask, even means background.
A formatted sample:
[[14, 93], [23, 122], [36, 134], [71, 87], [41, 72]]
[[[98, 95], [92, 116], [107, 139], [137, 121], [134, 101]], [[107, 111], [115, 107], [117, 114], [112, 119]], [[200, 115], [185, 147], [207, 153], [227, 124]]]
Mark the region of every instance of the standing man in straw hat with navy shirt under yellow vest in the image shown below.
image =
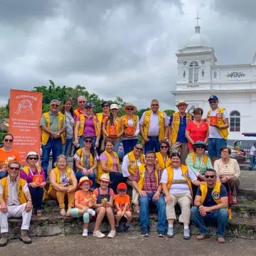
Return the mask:
[[188, 156], [188, 140], [186, 139], [186, 126], [193, 117], [186, 113], [188, 104], [185, 100], [180, 100], [176, 105], [178, 112], [171, 115], [169, 122], [169, 143], [172, 153], [181, 155], [181, 164], [186, 164]]

